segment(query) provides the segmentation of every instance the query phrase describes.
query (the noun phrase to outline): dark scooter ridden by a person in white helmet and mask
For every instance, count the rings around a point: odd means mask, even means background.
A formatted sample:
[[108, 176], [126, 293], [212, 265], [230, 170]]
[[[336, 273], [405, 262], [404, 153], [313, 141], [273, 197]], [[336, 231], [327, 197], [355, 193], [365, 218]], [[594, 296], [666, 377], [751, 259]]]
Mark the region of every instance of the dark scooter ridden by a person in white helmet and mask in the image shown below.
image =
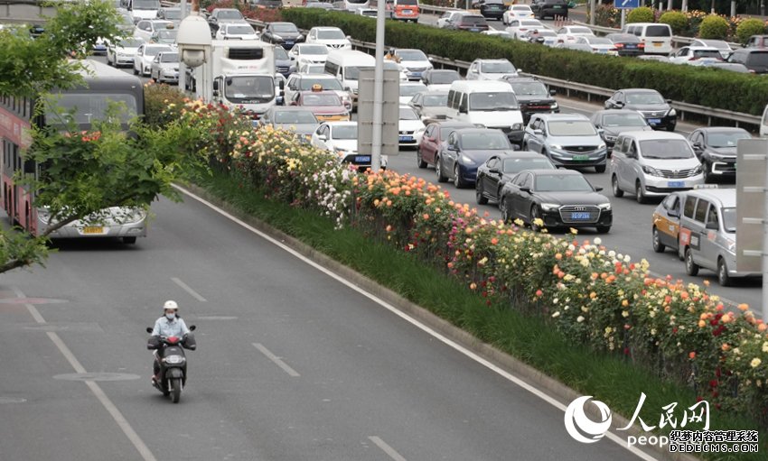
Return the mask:
[[[190, 331], [194, 329], [194, 325], [190, 326]], [[152, 327], [147, 327], [146, 332], [151, 334]], [[190, 333], [185, 337], [150, 337], [146, 348], [156, 351], [155, 360], [160, 364], [160, 380], [153, 378], [152, 384], [165, 397], [170, 395], [173, 403], [178, 403], [187, 383], [184, 349], [193, 351], [197, 348], [194, 336]]]

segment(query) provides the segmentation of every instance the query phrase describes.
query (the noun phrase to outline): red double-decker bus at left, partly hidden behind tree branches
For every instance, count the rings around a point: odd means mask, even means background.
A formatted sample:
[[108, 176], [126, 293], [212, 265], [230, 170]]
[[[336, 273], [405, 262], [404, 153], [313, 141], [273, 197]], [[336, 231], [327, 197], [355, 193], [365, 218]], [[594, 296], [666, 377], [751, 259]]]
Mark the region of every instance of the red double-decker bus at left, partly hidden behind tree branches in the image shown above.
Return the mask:
[[[126, 110], [124, 122], [144, 114], [144, 87], [141, 80], [106, 64], [85, 60], [83, 84], [76, 88], [54, 90], [37, 97], [0, 96], [0, 174], [3, 181], [3, 207], [12, 224], [22, 226], [32, 235], [40, 235], [49, 225], [48, 213], [34, 207], [33, 192], [14, 182], [17, 173], [39, 175], [40, 165], [24, 161], [22, 152], [30, 146], [33, 126], [56, 124], [47, 115], [35, 115], [41, 98], [51, 97], [64, 111], [72, 111], [80, 130], [90, 130], [92, 122], [104, 117], [112, 102], [121, 103]], [[49, 117], [50, 118], [50, 117]], [[61, 122], [60, 122], [61, 124]], [[143, 210], [111, 207], [99, 213], [98, 225], [75, 221], [54, 231], [52, 239], [82, 237], [120, 237], [126, 244], [136, 243], [136, 237], [146, 236], [146, 214]]]

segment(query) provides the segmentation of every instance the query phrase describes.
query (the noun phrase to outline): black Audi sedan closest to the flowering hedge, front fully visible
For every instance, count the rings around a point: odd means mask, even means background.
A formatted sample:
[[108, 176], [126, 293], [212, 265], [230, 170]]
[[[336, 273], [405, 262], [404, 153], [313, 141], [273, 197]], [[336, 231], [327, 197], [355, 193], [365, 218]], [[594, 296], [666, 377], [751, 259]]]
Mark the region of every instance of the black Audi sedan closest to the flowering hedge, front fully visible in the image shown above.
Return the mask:
[[579, 171], [520, 171], [501, 189], [504, 222], [521, 219], [533, 230], [545, 227], [595, 227], [611, 230], [611, 201]]

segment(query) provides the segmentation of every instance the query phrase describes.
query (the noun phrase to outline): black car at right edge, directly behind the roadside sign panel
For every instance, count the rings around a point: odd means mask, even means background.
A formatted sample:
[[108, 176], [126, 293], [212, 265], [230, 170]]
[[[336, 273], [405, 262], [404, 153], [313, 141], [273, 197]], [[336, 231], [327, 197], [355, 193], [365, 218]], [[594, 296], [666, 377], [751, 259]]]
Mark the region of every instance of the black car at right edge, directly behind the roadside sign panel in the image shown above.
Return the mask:
[[688, 141], [701, 161], [704, 182], [735, 180], [736, 146], [740, 139], [751, 138], [744, 128], [729, 126], [708, 126], [689, 134]]

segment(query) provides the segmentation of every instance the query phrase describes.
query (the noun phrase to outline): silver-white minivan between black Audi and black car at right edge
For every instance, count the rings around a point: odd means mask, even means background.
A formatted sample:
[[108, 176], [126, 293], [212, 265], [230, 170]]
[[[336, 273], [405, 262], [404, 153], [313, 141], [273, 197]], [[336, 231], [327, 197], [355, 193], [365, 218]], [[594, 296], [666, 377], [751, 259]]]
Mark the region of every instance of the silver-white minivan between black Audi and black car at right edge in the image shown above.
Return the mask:
[[701, 162], [688, 140], [677, 133], [626, 132], [613, 144], [613, 196], [635, 194], [638, 203], [704, 184]]

